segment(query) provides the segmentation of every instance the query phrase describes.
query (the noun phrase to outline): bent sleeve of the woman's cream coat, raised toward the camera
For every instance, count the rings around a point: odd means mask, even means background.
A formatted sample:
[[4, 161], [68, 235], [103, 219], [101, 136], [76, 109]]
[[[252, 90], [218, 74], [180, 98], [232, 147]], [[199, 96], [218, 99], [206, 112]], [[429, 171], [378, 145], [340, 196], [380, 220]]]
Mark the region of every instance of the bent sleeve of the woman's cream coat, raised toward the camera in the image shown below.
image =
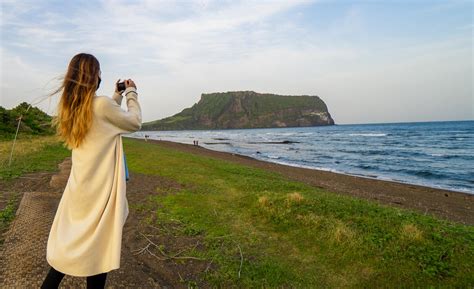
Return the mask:
[[124, 94], [128, 111], [121, 108], [118, 103], [121, 103], [121, 98], [118, 99], [115, 95], [113, 99], [106, 97], [102, 109], [105, 119], [118, 129], [117, 133], [132, 133], [142, 127], [142, 111], [135, 88], [128, 87]]

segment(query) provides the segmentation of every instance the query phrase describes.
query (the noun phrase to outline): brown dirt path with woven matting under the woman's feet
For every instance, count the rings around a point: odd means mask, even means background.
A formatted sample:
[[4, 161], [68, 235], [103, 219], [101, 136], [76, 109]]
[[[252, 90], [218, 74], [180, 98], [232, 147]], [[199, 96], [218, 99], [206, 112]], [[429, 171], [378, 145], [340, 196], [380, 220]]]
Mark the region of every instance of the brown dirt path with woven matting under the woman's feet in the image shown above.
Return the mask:
[[[44, 173], [31, 177], [30, 187], [43, 191], [23, 193], [15, 220], [6, 232], [5, 242], [0, 248], [0, 284], [2, 288], [39, 288], [49, 270], [46, 261], [46, 244], [61, 194], [70, 173], [71, 160], [60, 164], [60, 172], [50, 174], [49, 183]], [[32, 174], [30, 175], [32, 176]], [[179, 185], [155, 176], [130, 172], [127, 198], [130, 214], [124, 227], [121, 268], [109, 272], [107, 288], [188, 288], [188, 284], [207, 287], [200, 281], [200, 274], [207, 262], [190, 260], [175, 262], [160, 256], [153, 247], [145, 248], [150, 242], [162, 245], [166, 251], [185, 252], [187, 248], [200, 248], [195, 237], [174, 237], [168, 229], [147, 225], [150, 211], [139, 212], [135, 206], [146, 205], [147, 197], [162, 192], [172, 192]], [[35, 183], [35, 181], [37, 183]], [[21, 182], [21, 180], [18, 180]], [[10, 188], [21, 187], [20, 183]], [[143, 237], [147, 236], [148, 240]], [[201, 246], [202, 247], [202, 246]], [[136, 254], [142, 251], [140, 254]], [[155, 255], [155, 256], [153, 256]], [[161, 260], [159, 260], [160, 258]], [[86, 288], [84, 277], [66, 275], [60, 288]]]

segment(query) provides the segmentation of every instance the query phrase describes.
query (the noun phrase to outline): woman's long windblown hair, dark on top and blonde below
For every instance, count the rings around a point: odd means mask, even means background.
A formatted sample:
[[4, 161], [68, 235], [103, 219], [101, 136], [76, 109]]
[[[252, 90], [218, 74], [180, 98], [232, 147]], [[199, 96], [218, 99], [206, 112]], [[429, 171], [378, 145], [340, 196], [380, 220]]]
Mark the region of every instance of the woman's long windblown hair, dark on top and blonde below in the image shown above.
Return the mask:
[[91, 54], [79, 53], [69, 62], [61, 86], [57, 115], [51, 124], [56, 136], [72, 150], [79, 147], [92, 125], [92, 101], [98, 88], [100, 64]]

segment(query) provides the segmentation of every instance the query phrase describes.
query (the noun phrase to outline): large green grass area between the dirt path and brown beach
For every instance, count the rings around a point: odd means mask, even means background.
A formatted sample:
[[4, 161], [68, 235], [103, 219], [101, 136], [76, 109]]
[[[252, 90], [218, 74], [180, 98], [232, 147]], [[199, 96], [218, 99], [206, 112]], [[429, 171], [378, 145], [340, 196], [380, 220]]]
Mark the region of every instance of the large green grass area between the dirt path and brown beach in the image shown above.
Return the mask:
[[133, 139], [124, 148], [130, 170], [185, 184], [151, 208], [157, 222], [204, 238], [195, 254], [218, 266], [203, 273], [213, 286], [474, 286], [472, 226]]

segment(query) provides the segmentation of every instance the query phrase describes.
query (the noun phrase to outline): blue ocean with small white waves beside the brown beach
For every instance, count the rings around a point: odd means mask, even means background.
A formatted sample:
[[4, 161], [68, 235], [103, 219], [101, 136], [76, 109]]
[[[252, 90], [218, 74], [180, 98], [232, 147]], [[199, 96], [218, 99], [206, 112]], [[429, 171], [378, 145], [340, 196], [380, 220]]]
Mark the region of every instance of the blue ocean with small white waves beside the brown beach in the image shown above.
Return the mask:
[[474, 121], [140, 131], [259, 160], [474, 194]]

